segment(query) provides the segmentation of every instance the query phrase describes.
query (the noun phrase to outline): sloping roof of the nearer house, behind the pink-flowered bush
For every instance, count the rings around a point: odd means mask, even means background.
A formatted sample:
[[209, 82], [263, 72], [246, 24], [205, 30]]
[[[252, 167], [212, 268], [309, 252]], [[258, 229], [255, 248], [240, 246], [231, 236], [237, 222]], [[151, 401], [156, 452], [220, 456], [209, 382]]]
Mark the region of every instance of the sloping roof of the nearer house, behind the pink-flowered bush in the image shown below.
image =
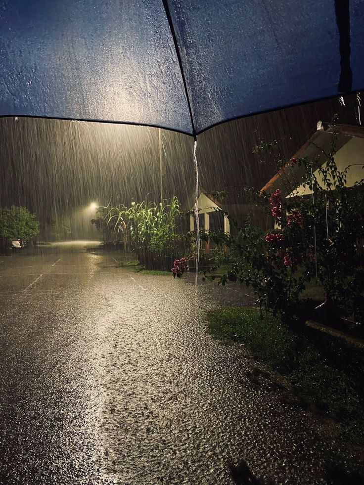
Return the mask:
[[[326, 153], [330, 151], [332, 134], [336, 133], [336, 151], [340, 150], [352, 138], [364, 138], [364, 127], [353, 125], [333, 125], [332, 123], [318, 122], [317, 131], [292, 155], [291, 158], [310, 158], [324, 163]], [[290, 164], [282, 167], [261, 188], [261, 192], [273, 192], [279, 188], [284, 196], [291, 193], [302, 183], [304, 170], [298, 165]]]

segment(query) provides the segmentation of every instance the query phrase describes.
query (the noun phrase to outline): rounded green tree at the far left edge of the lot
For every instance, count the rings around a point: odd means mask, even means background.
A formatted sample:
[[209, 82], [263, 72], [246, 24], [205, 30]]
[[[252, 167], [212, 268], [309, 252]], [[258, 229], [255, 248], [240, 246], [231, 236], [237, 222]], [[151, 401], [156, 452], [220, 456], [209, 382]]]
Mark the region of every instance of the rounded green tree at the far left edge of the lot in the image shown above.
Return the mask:
[[11, 206], [0, 208], [0, 237], [29, 241], [39, 233], [39, 222], [35, 214], [25, 207]]

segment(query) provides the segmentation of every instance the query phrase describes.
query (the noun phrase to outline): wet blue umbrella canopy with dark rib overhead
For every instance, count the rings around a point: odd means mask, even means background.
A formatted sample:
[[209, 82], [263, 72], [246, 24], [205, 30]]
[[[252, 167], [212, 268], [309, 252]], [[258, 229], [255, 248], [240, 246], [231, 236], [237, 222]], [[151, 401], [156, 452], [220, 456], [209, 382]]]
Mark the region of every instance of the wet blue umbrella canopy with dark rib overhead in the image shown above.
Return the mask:
[[364, 0], [3, 0], [0, 115], [157, 126], [364, 88]]

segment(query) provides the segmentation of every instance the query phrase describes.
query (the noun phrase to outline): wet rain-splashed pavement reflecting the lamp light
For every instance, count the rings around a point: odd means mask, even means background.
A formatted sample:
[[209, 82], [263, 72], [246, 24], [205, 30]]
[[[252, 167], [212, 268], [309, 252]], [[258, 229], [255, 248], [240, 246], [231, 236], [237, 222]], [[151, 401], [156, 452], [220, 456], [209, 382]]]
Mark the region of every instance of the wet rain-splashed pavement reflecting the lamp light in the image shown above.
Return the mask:
[[0, 483], [228, 485], [244, 460], [262, 483], [324, 484], [340, 443], [206, 332], [206, 310], [252, 298], [121, 260], [0, 257]]

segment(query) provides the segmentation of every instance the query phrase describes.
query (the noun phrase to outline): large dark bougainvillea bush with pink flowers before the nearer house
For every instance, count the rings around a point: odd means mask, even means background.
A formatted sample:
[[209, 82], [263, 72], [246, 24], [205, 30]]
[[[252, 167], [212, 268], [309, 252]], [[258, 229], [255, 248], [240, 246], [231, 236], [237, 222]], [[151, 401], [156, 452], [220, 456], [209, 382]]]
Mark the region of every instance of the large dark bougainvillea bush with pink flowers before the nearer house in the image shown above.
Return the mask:
[[[364, 264], [359, 246], [364, 240], [364, 178], [347, 187], [350, 161], [339, 170], [335, 148], [333, 134], [324, 163], [322, 158], [279, 162], [280, 167], [303, 169], [307, 196], [293, 192], [287, 199], [279, 189], [271, 194], [250, 190], [272, 215], [274, 229], [266, 233], [248, 219], [236, 236], [221, 241], [237, 255], [229, 271], [207, 272], [206, 277], [251, 286], [261, 309], [287, 319], [297, 313], [300, 294], [314, 278], [325, 292], [324, 305], [363, 321]], [[216, 235], [210, 236], [217, 242]]]

